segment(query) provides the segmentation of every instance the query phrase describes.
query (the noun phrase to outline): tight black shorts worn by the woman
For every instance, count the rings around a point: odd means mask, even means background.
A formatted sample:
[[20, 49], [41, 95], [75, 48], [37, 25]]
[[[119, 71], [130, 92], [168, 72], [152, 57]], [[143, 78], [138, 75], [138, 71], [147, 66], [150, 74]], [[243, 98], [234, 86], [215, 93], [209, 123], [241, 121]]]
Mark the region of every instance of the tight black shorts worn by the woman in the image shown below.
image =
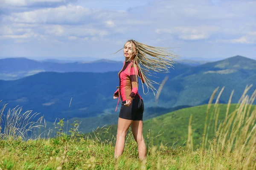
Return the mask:
[[144, 112], [143, 99], [140, 99], [139, 95], [136, 95], [132, 100], [130, 106], [125, 106], [126, 102], [122, 102], [122, 106], [119, 112], [119, 117], [128, 120], [142, 120]]

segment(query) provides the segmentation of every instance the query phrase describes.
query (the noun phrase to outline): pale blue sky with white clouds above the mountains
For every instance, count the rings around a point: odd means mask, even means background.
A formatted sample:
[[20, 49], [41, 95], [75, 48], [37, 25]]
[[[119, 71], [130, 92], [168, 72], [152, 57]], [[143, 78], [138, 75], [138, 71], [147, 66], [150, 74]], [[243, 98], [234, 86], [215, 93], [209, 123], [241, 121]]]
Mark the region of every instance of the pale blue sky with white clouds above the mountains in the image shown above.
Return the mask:
[[180, 57], [256, 59], [256, 0], [0, 0], [0, 57], [123, 59], [126, 40]]

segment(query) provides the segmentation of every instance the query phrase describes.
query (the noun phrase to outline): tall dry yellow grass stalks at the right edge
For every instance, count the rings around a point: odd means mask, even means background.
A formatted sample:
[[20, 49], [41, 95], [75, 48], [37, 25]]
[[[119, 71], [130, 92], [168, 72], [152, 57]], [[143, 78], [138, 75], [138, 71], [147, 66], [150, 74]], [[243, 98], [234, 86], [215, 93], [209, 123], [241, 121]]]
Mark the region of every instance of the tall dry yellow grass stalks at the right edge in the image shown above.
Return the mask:
[[[229, 108], [234, 93], [232, 91], [224, 121], [218, 120], [220, 111], [218, 102], [224, 87], [214, 104], [212, 104], [212, 100], [218, 88], [213, 91], [207, 105], [204, 133], [199, 149], [201, 169], [221, 169], [223, 159], [232, 161], [232, 167], [236, 167], [236, 169], [256, 169], [256, 108], [251, 110], [256, 98], [256, 90], [251, 96], [247, 95], [251, 87], [252, 85], [246, 86], [235, 111], [230, 113]], [[214, 108], [213, 113], [209, 113], [211, 107]], [[193, 151], [191, 119], [192, 116], [189, 121], [187, 147]], [[212, 139], [208, 139], [211, 126], [214, 127], [215, 135]]]

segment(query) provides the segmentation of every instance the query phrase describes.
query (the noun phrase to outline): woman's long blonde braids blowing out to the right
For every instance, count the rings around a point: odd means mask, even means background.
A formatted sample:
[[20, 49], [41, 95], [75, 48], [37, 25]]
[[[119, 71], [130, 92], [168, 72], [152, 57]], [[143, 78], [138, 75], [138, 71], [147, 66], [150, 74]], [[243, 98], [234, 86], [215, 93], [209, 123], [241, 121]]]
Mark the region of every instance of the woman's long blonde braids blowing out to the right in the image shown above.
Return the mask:
[[[135, 50], [133, 49], [134, 46], [137, 51], [137, 55], [135, 55], [134, 60], [132, 62], [133, 63], [132, 67], [137, 66], [139, 71], [139, 73], [136, 73], [136, 76], [138, 75], [140, 77], [142, 86], [143, 86], [143, 83], [145, 83], [145, 85], [148, 88], [148, 91], [150, 88], [154, 93], [154, 90], [157, 91], [157, 89], [154, 88], [153, 84], [159, 85], [159, 83], [149, 78], [150, 76], [153, 76], [150, 71], [153, 71], [153, 74], [156, 74], [155, 72], [168, 73], [169, 68], [173, 68], [173, 64], [176, 63], [173, 60], [173, 58], [177, 58], [178, 55], [170, 53], [168, 51], [169, 48], [154, 47], [154, 46], [146, 45], [132, 39], [128, 40], [127, 42], [132, 43], [132, 54], [135, 52]], [[122, 50], [123, 48], [121, 48], [120, 50]], [[130, 59], [131, 57], [129, 58], [129, 60]], [[134, 70], [137, 71], [137, 69], [134, 69]], [[143, 93], [144, 93], [144, 87], [143, 87]]]

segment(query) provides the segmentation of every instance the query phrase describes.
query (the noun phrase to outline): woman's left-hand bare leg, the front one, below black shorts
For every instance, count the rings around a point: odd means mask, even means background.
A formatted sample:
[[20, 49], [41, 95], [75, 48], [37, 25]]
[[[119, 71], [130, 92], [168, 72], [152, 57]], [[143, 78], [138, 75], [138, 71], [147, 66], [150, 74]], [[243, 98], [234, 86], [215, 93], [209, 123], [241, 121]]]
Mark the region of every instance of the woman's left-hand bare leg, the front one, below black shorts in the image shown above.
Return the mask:
[[117, 133], [116, 133], [116, 147], [115, 147], [115, 158], [122, 155], [125, 147], [125, 136], [131, 125], [132, 120], [118, 118]]

